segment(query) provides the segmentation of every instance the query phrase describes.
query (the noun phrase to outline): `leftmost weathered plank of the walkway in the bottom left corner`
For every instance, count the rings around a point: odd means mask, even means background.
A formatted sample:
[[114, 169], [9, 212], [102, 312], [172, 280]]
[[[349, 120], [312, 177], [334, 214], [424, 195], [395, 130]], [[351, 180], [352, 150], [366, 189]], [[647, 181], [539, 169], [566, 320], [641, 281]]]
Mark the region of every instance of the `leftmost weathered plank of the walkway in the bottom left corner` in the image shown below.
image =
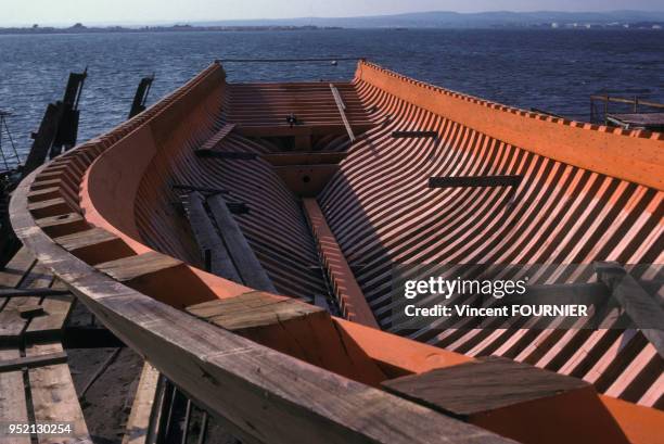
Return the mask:
[[[20, 357], [18, 348], [0, 348], [0, 360]], [[0, 421], [28, 421], [22, 371], [0, 372]], [[2, 443], [30, 444], [30, 436], [2, 436]]]

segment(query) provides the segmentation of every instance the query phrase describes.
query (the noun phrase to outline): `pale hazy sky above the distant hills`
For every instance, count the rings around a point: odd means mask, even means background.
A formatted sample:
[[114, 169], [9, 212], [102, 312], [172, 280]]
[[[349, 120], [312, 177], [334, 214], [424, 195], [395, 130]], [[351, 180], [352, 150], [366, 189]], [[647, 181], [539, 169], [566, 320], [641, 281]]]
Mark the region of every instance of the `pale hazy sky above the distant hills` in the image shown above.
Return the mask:
[[664, 10], [663, 0], [0, 0], [0, 25], [353, 16], [413, 11]]

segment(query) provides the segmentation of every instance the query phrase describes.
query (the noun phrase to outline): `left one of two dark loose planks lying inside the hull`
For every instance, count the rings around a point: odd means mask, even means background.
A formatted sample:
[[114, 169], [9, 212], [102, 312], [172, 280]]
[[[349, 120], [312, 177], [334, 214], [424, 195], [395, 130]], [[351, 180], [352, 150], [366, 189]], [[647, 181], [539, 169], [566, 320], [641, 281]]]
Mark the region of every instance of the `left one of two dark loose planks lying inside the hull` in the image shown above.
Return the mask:
[[233, 265], [233, 261], [203, 206], [204, 202], [205, 199], [199, 192], [190, 193], [188, 196], [187, 217], [202, 255], [205, 255], [205, 251], [209, 251], [210, 261], [208, 264], [209, 270], [207, 271], [241, 283], [242, 280]]

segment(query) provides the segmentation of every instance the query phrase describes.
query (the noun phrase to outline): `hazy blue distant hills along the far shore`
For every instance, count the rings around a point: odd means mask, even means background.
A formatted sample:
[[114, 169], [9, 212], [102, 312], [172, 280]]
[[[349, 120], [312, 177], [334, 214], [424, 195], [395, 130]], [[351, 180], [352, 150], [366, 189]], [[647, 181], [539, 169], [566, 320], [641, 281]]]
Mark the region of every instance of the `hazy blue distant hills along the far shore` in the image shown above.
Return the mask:
[[301, 17], [283, 20], [246, 20], [199, 22], [201, 26], [320, 26], [346, 28], [407, 27], [407, 28], [484, 28], [560, 25], [610, 25], [630, 23], [662, 23], [664, 11], [611, 11], [611, 12], [480, 12], [458, 13], [446, 11], [418, 12], [398, 15], [362, 17]]

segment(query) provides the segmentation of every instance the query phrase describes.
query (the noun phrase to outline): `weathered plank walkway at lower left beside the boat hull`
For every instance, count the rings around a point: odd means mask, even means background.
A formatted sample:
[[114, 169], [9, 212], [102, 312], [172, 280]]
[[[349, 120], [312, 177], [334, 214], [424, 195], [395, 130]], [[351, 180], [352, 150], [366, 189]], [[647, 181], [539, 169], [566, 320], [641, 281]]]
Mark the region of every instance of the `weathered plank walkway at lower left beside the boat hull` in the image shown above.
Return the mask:
[[[66, 363], [66, 353], [59, 342], [35, 343], [60, 334], [72, 307], [72, 295], [62, 282], [53, 281], [53, 275], [35, 261], [27, 249], [22, 249], [8, 267], [0, 271], [0, 283], [12, 291], [24, 290], [4, 299], [0, 312], [0, 330], [3, 340], [23, 341], [25, 355], [18, 348], [0, 350], [0, 420], [27, 422], [74, 422], [73, 436], [37, 436], [39, 444], [90, 443], [82, 411]], [[16, 289], [18, 287], [18, 289]], [[10, 289], [5, 289], [10, 291]], [[53, 294], [55, 293], [55, 294]], [[0, 306], [2, 300], [0, 299]], [[41, 316], [23, 319], [26, 307], [38, 307]], [[28, 386], [24, 384], [23, 369], [27, 369]], [[30, 403], [26, 402], [26, 391]], [[33, 411], [28, 416], [28, 405]], [[28, 444], [29, 436], [2, 437], [8, 444]]]

